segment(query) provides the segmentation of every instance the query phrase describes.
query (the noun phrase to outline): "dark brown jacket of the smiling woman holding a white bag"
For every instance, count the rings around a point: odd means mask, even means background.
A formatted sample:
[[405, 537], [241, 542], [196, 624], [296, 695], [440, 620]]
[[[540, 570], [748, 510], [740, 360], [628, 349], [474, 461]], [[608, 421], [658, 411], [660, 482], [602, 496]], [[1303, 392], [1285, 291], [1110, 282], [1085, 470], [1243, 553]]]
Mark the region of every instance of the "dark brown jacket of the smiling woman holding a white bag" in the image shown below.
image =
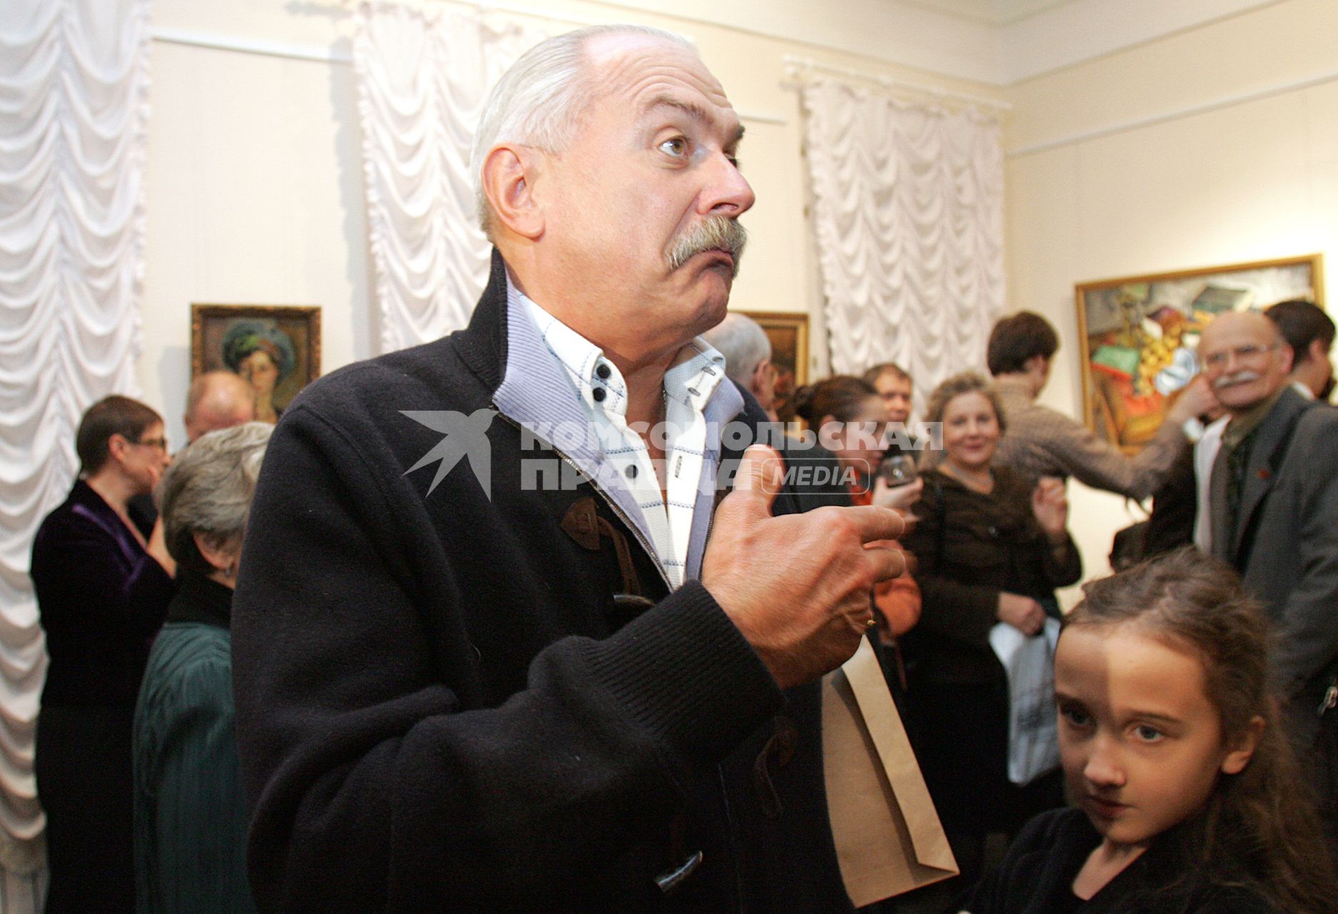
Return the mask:
[[1057, 557], [1032, 514], [1032, 490], [1008, 467], [994, 467], [994, 491], [973, 491], [938, 471], [926, 474], [915, 506], [921, 518], [902, 539], [915, 555], [921, 620], [902, 640], [921, 682], [990, 682], [1004, 676], [990, 629], [999, 593], [1053, 600], [1054, 587], [1082, 577], [1073, 539]]

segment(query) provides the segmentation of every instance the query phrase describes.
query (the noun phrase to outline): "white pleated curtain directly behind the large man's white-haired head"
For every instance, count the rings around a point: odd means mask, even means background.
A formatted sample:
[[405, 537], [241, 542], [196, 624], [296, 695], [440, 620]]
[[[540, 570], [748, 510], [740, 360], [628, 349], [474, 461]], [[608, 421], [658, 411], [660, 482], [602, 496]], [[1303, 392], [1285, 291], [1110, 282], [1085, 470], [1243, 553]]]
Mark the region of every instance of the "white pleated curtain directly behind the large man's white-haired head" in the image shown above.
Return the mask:
[[468, 165], [488, 91], [546, 33], [474, 12], [363, 4], [353, 37], [380, 351], [468, 324], [491, 246]]

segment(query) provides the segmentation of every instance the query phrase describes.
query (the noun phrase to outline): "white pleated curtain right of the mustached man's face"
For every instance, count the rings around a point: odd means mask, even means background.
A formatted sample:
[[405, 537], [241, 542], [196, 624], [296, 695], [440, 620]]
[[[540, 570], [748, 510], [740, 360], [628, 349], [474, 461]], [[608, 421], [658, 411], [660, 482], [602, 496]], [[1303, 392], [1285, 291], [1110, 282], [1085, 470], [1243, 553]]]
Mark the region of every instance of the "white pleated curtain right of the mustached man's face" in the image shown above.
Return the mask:
[[1004, 309], [998, 123], [816, 74], [800, 92], [832, 372], [895, 361], [921, 414], [983, 368]]

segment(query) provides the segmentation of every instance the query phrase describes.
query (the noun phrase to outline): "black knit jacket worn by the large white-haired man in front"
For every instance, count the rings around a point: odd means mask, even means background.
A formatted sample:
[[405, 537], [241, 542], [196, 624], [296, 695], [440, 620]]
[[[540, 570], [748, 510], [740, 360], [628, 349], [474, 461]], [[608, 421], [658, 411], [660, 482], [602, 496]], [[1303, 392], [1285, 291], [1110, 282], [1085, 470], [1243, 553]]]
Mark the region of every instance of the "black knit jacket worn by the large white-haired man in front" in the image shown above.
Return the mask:
[[468, 329], [274, 431], [233, 616], [261, 910], [850, 910], [816, 687], [783, 695], [700, 583], [666, 594], [590, 482], [523, 486], [554, 454], [506, 416], [491, 498], [468, 460], [411, 470], [442, 434], [401, 411], [492, 408], [506, 327], [495, 254]]

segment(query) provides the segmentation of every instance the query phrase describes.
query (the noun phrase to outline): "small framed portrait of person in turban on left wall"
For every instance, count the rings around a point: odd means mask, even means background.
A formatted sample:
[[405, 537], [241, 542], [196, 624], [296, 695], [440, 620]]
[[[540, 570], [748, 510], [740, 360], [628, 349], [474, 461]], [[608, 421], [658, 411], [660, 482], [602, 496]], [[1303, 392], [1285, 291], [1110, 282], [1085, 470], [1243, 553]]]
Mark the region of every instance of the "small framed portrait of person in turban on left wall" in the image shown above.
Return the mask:
[[241, 375], [256, 391], [256, 418], [274, 423], [321, 373], [316, 305], [191, 305], [190, 376]]

